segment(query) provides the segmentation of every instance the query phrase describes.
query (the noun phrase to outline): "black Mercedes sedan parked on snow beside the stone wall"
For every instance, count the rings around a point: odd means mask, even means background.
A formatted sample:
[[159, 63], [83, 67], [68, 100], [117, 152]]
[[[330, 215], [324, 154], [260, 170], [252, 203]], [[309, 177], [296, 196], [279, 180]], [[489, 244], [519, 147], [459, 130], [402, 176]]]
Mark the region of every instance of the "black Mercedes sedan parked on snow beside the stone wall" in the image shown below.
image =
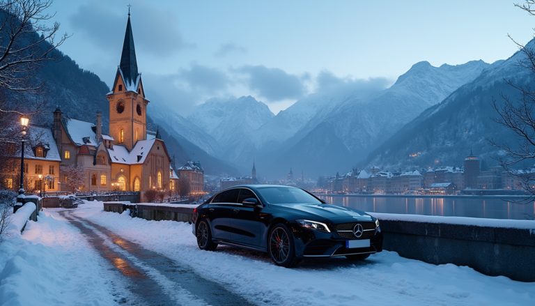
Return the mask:
[[218, 244], [258, 250], [285, 267], [303, 257], [363, 260], [382, 251], [375, 217], [289, 186], [229, 188], [195, 208], [192, 220], [201, 250]]

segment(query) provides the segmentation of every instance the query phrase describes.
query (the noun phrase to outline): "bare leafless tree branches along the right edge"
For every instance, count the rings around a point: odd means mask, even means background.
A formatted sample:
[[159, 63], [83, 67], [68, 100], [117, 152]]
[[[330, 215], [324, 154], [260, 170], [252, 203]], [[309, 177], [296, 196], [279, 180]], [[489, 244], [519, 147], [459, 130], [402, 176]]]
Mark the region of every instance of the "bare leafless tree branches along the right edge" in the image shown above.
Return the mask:
[[[525, 3], [515, 3], [515, 6], [530, 15], [535, 15], [535, 0], [525, 0]], [[522, 45], [511, 36], [509, 38], [524, 55], [523, 59], [518, 61], [519, 68], [527, 69], [535, 76], [534, 46]], [[506, 82], [515, 89], [519, 98], [511, 98], [502, 94], [502, 101], [493, 100], [493, 107], [499, 115], [495, 121], [511, 130], [520, 142], [518, 145], [491, 142], [506, 153], [504, 158], [499, 160], [502, 167], [509, 172], [509, 175], [520, 181], [523, 189], [535, 197], [535, 172], [531, 169], [528, 171], [518, 169], [526, 162], [535, 161], [535, 91], [529, 86], [514, 84], [511, 80], [506, 80]]]

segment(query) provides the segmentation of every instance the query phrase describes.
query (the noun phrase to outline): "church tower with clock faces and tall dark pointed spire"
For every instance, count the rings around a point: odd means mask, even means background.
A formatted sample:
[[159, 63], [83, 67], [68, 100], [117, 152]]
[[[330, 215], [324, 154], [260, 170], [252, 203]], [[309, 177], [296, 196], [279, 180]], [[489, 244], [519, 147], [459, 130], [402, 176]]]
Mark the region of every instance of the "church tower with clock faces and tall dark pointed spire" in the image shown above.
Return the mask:
[[147, 137], [145, 98], [141, 74], [137, 71], [136, 49], [130, 24], [130, 12], [126, 24], [121, 63], [117, 68], [114, 85], [107, 94], [109, 101], [109, 134], [114, 144], [124, 145], [131, 151], [138, 140]]

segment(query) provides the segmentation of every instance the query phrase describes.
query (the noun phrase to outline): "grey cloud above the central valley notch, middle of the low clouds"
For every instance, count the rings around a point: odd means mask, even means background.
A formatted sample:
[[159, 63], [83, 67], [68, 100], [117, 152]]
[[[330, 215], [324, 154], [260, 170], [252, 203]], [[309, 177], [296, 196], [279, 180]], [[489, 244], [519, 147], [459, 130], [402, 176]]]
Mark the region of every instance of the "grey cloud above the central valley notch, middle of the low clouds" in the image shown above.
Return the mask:
[[300, 77], [290, 75], [279, 68], [242, 66], [235, 71], [247, 75], [249, 89], [266, 98], [267, 102], [298, 99], [305, 93]]

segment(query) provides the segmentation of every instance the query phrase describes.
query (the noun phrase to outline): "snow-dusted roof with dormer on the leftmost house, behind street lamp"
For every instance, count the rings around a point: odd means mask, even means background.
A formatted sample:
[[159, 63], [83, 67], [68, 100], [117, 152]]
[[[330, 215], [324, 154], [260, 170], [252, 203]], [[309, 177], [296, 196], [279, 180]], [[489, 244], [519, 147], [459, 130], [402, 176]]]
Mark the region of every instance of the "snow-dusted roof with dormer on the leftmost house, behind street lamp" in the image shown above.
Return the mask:
[[[29, 125], [27, 142], [24, 146], [24, 158], [32, 160], [49, 160], [61, 162], [61, 155], [59, 155], [56, 141], [52, 135], [52, 130], [49, 128], [40, 127], [37, 125]], [[35, 148], [42, 146], [45, 149], [45, 157], [36, 157]], [[20, 149], [17, 150], [17, 156], [20, 156]]]

